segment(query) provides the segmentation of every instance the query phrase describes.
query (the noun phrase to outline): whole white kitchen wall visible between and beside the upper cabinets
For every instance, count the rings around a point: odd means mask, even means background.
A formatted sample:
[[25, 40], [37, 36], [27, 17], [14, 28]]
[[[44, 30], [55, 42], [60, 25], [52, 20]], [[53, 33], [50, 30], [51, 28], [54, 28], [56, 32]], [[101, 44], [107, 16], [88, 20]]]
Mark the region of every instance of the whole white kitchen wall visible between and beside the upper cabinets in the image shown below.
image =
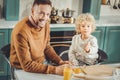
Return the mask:
[[[20, 10], [19, 10], [20, 19], [29, 15], [33, 1], [34, 0], [20, 0]], [[82, 13], [83, 0], [51, 0], [51, 1], [52, 1], [52, 5], [59, 11], [66, 8], [75, 10], [74, 17], [77, 17], [80, 13]], [[117, 0], [117, 3], [118, 1], [119, 0]], [[113, 9], [113, 4], [114, 4], [114, 0], [111, 0], [111, 6], [102, 5], [100, 16], [113, 16], [113, 15], [120, 16], [120, 9], [116, 9], [116, 10]], [[0, 5], [3, 7], [3, 0], [0, 0]], [[61, 16], [61, 12], [59, 12], [59, 15]]]

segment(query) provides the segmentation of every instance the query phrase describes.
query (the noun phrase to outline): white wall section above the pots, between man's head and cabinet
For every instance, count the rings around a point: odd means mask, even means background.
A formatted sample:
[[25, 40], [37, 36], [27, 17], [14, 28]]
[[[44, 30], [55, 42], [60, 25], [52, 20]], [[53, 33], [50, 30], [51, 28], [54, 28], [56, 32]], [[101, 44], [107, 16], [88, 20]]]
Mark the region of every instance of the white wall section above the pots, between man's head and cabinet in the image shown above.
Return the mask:
[[[58, 10], [70, 8], [71, 10], [74, 10], [74, 16], [78, 16], [82, 12], [82, 4], [83, 0], [51, 0], [53, 3], [53, 6], [57, 8]], [[59, 15], [61, 16], [61, 12], [59, 12]]]

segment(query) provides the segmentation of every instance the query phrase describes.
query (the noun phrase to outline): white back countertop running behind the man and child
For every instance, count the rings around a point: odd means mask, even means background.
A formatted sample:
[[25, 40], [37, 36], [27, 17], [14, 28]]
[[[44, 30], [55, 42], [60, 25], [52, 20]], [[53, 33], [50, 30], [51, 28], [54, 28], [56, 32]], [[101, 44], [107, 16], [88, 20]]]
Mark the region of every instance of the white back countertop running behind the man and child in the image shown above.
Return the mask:
[[[15, 24], [18, 21], [5, 21], [4, 19], [0, 19], [0, 29], [5, 28], [14, 28]], [[120, 26], [120, 16], [101, 16], [99, 20], [96, 20], [97, 27], [100, 26]], [[50, 24], [51, 28], [56, 27], [74, 27], [75, 24]]]

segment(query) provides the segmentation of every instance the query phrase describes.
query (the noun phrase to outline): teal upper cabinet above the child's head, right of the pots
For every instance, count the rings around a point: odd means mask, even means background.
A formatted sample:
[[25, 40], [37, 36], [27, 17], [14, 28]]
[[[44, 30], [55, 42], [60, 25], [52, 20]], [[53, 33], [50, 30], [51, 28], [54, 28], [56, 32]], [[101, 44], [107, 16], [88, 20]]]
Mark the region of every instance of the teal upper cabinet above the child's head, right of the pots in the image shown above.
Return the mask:
[[100, 16], [101, 0], [83, 0], [83, 13], [91, 13], [95, 19]]

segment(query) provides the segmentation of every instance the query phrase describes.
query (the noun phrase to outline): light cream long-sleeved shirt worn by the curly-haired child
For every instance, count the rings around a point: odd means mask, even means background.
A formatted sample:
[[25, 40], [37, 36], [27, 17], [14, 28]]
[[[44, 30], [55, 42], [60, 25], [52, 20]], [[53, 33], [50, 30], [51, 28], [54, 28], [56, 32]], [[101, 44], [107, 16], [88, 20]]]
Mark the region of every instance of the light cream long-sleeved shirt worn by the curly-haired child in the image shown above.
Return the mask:
[[[92, 59], [97, 59], [98, 58], [98, 44], [97, 44], [97, 39], [90, 35], [90, 37], [86, 40], [82, 40], [81, 35], [75, 35], [72, 38], [72, 44], [69, 49], [69, 59], [70, 61], [74, 61], [75, 63], [77, 62], [76, 59], [83, 59], [86, 60], [92, 60]], [[85, 44], [90, 41], [91, 47], [90, 47], [90, 52], [86, 53], [84, 50]], [[82, 55], [82, 57], [81, 57]], [[84, 58], [83, 58], [84, 57]]]

